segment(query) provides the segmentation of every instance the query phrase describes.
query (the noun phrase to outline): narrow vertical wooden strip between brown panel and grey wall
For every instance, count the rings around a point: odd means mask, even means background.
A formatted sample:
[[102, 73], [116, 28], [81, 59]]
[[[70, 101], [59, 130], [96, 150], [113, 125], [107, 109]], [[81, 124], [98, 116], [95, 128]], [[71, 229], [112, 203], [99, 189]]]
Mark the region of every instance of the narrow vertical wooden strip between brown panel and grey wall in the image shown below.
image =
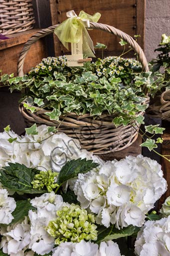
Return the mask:
[[138, 37], [139, 45], [145, 49], [145, 8], [146, 0], [136, 0], [136, 34], [140, 34]]

